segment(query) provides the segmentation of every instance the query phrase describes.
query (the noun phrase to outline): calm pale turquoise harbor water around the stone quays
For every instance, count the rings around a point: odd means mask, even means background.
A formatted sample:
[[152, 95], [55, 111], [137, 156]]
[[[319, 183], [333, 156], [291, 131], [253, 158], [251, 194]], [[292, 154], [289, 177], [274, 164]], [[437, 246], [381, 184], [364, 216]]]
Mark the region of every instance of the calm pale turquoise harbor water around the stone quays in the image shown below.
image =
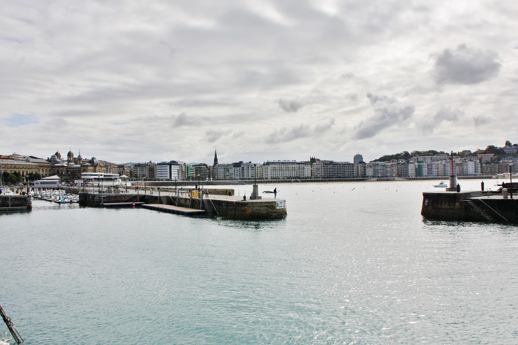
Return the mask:
[[261, 222], [35, 200], [0, 304], [27, 344], [515, 344], [518, 227], [424, 220], [437, 183], [260, 185]]

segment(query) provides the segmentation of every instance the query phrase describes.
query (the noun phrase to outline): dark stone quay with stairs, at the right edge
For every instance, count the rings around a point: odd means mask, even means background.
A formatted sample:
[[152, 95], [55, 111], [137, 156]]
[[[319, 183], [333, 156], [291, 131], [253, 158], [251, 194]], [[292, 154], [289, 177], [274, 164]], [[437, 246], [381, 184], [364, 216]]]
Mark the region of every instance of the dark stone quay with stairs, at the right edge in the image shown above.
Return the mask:
[[506, 189], [493, 193], [427, 191], [423, 192], [421, 215], [436, 220], [518, 224], [518, 199], [512, 198]]

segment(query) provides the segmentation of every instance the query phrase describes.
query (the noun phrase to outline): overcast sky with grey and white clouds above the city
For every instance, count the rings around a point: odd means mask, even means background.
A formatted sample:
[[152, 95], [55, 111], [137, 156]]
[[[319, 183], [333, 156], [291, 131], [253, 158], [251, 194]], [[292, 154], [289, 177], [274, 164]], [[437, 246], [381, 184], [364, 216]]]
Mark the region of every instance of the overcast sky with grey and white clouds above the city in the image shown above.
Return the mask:
[[515, 143], [512, 1], [6, 0], [0, 154], [111, 162]]

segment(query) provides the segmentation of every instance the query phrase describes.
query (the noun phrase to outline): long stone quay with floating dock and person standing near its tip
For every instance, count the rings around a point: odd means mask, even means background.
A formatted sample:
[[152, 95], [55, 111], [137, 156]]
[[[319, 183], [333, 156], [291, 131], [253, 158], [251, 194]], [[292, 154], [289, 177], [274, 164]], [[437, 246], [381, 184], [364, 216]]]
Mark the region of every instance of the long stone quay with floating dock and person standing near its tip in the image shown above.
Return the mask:
[[[151, 190], [120, 188], [106, 193], [85, 191], [79, 192], [79, 204], [87, 207], [140, 206], [186, 216], [209, 215], [238, 220], [278, 219], [287, 215], [284, 199], [250, 200], [235, 196], [233, 189], [214, 188], [204, 191], [205, 195], [194, 189], [177, 191], [158, 187]], [[203, 212], [188, 211], [189, 209]]]

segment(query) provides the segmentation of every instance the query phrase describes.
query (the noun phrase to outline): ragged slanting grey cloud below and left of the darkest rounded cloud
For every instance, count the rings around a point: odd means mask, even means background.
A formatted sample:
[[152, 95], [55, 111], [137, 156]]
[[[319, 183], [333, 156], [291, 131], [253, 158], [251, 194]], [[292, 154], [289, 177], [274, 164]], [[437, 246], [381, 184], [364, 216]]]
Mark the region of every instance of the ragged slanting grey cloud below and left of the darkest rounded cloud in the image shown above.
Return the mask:
[[354, 128], [355, 139], [371, 138], [385, 128], [403, 124], [415, 112], [413, 105], [399, 103], [394, 97], [367, 93], [367, 98], [374, 109], [374, 115]]

